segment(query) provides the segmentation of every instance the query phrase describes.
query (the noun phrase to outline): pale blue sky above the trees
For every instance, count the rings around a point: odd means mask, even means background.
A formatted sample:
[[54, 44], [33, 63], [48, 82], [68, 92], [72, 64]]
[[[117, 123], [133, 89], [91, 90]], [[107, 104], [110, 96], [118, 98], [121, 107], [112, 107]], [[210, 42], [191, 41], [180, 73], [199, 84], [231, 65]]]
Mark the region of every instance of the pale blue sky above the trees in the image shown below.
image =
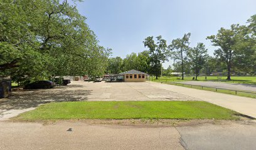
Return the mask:
[[[255, 0], [84, 0], [77, 2], [80, 14], [97, 35], [100, 45], [112, 48], [112, 57], [125, 58], [146, 50], [147, 36], [163, 36], [168, 44], [191, 32], [190, 46], [206, 44], [210, 55], [216, 47], [206, 36], [220, 27], [245, 24], [256, 14]], [[171, 64], [165, 63], [167, 68]]]

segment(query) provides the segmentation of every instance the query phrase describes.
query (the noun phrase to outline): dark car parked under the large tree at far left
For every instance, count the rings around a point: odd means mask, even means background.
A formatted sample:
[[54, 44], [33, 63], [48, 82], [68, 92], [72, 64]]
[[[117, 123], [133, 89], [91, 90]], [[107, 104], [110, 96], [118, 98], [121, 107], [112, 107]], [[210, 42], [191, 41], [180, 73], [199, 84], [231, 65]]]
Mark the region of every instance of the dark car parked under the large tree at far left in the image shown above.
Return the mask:
[[35, 83], [27, 84], [24, 89], [49, 89], [56, 86], [53, 81], [36, 81]]

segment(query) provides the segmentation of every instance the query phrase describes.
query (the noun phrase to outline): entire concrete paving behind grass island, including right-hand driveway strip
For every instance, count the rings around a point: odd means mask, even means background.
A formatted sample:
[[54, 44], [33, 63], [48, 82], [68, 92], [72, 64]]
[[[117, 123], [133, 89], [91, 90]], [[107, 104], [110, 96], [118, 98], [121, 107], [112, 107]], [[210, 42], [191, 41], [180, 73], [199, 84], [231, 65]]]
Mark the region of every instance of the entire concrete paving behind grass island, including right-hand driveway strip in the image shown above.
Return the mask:
[[61, 101], [207, 101], [256, 118], [253, 98], [214, 93], [161, 83], [93, 83], [73, 81], [52, 89], [13, 91], [0, 99], [0, 120], [16, 116], [36, 106]]

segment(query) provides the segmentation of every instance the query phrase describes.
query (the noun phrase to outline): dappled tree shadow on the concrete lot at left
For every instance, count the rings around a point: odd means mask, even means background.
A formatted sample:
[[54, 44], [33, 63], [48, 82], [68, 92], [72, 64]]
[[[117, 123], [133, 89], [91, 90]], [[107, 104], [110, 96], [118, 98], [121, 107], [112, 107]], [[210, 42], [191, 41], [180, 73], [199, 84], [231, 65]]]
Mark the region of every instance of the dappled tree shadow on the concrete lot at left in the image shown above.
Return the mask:
[[[73, 88], [73, 90], [70, 88]], [[81, 88], [81, 86], [56, 86], [51, 89], [13, 91], [9, 98], [0, 101], [0, 110], [35, 108], [40, 104], [50, 102], [87, 101], [91, 90], [75, 88]]]

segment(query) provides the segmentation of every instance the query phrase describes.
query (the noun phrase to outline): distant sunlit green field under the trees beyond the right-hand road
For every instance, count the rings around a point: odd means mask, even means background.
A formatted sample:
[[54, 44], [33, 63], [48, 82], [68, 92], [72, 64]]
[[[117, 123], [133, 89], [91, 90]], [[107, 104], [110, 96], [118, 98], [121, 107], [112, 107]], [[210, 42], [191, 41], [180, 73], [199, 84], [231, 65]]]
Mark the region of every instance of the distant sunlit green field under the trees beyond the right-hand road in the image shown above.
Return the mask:
[[[161, 82], [161, 81], [192, 81], [193, 76], [184, 77], [184, 80], [181, 80], [181, 77], [160, 77], [158, 80], [153, 78], [153, 81]], [[232, 76], [232, 80], [226, 80], [226, 76], [207, 76], [205, 80], [205, 76], [199, 76], [198, 81], [221, 81], [225, 83], [245, 83], [245, 84], [256, 84], [256, 76]], [[151, 79], [152, 81], [152, 79]]]

